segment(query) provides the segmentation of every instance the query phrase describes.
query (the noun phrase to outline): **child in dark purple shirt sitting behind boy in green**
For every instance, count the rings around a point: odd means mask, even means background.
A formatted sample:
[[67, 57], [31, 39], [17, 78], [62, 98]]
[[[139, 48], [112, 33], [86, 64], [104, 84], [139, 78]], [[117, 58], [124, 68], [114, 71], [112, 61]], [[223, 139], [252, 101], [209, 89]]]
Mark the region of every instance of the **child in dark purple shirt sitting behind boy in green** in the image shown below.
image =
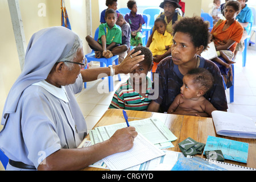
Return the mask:
[[125, 15], [125, 20], [131, 27], [131, 46], [142, 46], [142, 24], [145, 23], [141, 14], [137, 14], [137, 4], [134, 0], [127, 2], [127, 7], [131, 13]]

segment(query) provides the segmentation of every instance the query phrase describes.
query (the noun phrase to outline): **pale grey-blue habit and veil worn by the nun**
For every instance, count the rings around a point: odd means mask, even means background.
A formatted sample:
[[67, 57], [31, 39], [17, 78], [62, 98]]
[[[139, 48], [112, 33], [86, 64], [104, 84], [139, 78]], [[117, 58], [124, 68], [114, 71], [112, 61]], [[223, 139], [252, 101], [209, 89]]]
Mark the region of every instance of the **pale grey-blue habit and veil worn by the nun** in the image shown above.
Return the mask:
[[[16, 162], [35, 166], [61, 148], [76, 148], [86, 135], [86, 123], [75, 94], [75, 84], [56, 88], [44, 81], [53, 65], [73, 46], [75, 33], [50, 27], [32, 35], [24, 68], [7, 96], [1, 125], [0, 149]], [[7, 170], [20, 170], [10, 164]]]

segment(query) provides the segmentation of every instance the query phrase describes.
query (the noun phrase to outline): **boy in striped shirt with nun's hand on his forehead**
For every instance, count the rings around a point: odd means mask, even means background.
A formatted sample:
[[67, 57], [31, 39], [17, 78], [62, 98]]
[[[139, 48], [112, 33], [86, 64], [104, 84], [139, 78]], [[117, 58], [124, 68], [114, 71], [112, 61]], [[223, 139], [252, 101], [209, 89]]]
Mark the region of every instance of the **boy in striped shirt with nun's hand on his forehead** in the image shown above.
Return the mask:
[[119, 86], [109, 108], [146, 111], [150, 104], [148, 94], [152, 88], [152, 82], [147, 77], [147, 73], [152, 69], [152, 52], [142, 46], [134, 49], [134, 52], [141, 51], [139, 55], [144, 55], [144, 60], [130, 73], [130, 78]]

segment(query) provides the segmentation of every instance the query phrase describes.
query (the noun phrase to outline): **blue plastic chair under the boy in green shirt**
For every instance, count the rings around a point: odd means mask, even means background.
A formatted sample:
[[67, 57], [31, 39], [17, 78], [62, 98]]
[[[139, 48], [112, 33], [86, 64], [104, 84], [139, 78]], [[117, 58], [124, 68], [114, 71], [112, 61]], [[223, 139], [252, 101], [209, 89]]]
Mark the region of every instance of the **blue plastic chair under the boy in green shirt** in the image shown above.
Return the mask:
[[[95, 31], [94, 40], [96, 40], [96, 41], [98, 40], [98, 28]], [[118, 57], [119, 56], [115, 55], [108, 59], [105, 57], [96, 58], [95, 53], [92, 50], [92, 52], [86, 54], [85, 57], [86, 57], [88, 63], [90, 63], [90, 61], [98, 61], [98, 62], [100, 62], [100, 67], [108, 67], [109, 65], [112, 65], [113, 61], [115, 61], [115, 65], [118, 65]], [[85, 69], [86, 69], [86, 67], [85, 67]], [[104, 78], [102, 78], [102, 79], [104, 79]], [[109, 76], [108, 80], [109, 80], [109, 92], [113, 92], [114, 91], [113, 76]], [[119, 74], [118, 74], [118, 80], [121, 81], [121, 77]], [[84, 88], [86, 88], [86, 82], [84, 82]]]

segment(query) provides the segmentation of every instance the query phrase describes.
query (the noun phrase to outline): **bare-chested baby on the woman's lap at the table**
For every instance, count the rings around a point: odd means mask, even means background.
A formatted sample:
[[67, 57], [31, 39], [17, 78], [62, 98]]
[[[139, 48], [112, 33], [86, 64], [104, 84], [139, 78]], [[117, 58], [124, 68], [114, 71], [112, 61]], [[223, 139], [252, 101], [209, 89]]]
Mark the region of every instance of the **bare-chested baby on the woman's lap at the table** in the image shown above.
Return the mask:
[[212, 88], [213, 76], [207, 69], [191, 69], [183, 77], [180, 94], [175, 97], [167, 113], [211, 117], [215, 107], [204, 97]]

